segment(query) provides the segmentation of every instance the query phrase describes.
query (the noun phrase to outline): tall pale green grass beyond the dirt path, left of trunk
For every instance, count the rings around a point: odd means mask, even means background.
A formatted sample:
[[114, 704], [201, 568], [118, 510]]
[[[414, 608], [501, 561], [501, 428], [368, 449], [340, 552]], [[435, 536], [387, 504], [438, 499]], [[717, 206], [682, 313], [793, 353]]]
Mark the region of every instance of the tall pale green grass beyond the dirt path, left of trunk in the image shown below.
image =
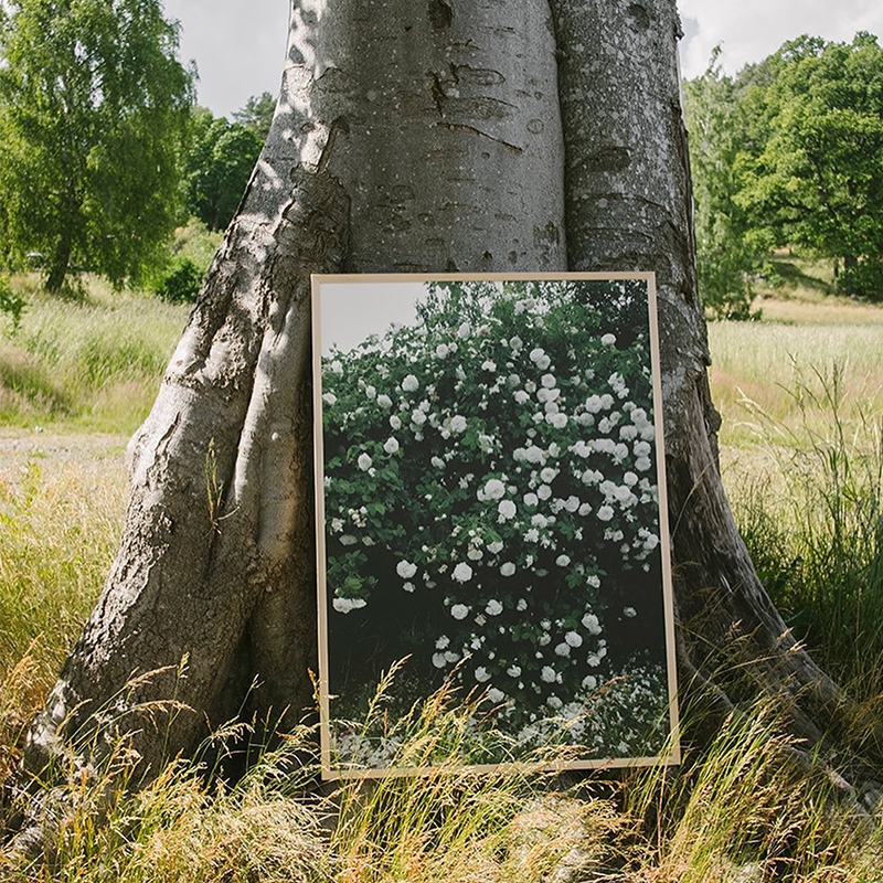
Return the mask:
[[44, 294], [15, 277], [28, 307], [0, 338], [0, 426], [50, 422], [89, 432], [131, 433], [156, 397], [187, 308], [87, 279], [83, 299]]

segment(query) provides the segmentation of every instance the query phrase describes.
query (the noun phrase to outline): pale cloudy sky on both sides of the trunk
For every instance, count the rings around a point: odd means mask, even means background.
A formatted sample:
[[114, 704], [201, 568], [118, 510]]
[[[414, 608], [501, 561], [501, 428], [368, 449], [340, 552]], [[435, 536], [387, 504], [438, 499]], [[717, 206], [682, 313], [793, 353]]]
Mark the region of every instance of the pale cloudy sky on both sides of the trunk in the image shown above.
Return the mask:
[[[252, 95], [275, 96], [285, 55], [288, 0], [164, 0], [181, 22], [181, 56], [200, 73], [199, 100], [230, 115]], [[851, 40], [857, 31], [883, 34], [881, 0], [680, 0], [685, 36], [684, 76], [701, 74], [723, 45], [735, 73], [804, 33]]]

